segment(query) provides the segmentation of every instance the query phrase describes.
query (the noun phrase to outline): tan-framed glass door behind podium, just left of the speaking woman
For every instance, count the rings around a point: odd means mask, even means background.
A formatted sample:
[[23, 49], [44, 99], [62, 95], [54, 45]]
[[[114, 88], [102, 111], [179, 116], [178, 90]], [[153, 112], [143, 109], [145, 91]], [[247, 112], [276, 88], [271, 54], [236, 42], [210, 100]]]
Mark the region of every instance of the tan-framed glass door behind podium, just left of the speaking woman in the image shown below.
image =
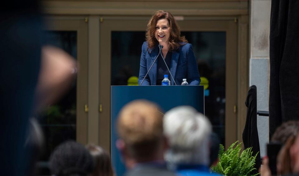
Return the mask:
[[[128, 79], [139, 75], [141, 46], [145, 38], [147, 20], [103, 18], [100, 24], [99, 114], [100, 145], [110, 145], [110, 86], [128, 85]], [[115, 126], [115, 124], [112, 124]], [[109, 136], [109, 138], [107, 138]]]

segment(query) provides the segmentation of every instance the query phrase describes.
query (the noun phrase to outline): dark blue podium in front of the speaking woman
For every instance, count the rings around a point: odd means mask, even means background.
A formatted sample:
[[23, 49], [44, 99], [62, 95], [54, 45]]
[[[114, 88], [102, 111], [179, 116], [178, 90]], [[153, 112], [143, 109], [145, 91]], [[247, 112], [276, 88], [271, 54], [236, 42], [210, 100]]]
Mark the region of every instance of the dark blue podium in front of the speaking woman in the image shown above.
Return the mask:
[[181, 105], [192, 106], [202, 114], [205, 110], [204, 86], [111, 86], [111, 160], [116, 175], [126, 170], [115, 146], [117, 116], [124, 105], [137, 99], [156, 103], [163, 113]]

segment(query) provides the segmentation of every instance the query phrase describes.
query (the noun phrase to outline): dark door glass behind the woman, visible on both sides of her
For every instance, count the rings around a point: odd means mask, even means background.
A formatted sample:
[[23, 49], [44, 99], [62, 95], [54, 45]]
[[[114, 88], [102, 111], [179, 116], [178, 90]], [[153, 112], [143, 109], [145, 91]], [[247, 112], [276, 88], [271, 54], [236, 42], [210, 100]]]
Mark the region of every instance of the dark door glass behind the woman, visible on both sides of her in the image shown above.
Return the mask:
[[[193, 45], [202, 84], [205, 84], [205, 115], [225, 141], [225, 32], [181, 32]], [[111, 33], [111, 85], [128, 85], [139, 75], [145, 32]]]

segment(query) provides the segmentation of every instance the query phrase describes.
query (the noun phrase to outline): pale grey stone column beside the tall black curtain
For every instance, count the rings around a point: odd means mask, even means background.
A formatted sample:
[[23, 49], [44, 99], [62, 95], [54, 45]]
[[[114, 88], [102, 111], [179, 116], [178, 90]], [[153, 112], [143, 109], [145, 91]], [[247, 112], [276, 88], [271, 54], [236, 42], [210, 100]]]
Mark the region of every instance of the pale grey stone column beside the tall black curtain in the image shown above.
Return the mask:
[[[269, 34], [271, 0], [250, 0], [249, 86], [257, 86], [257, 110], [269, 110]], [[258, 116], [261, 156], [269, 141], [269, 118]]]

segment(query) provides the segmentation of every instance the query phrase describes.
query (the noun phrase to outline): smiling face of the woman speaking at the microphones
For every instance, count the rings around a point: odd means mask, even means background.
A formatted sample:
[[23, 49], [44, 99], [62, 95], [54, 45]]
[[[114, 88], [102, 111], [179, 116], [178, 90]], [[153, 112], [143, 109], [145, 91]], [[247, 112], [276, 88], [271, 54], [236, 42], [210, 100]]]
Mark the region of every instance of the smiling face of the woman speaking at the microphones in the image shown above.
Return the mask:
[[160, 44], [167, 43], [169, 41], [170, 26], [166, 19], [160, 19], [157, 21], [155, 37]]

